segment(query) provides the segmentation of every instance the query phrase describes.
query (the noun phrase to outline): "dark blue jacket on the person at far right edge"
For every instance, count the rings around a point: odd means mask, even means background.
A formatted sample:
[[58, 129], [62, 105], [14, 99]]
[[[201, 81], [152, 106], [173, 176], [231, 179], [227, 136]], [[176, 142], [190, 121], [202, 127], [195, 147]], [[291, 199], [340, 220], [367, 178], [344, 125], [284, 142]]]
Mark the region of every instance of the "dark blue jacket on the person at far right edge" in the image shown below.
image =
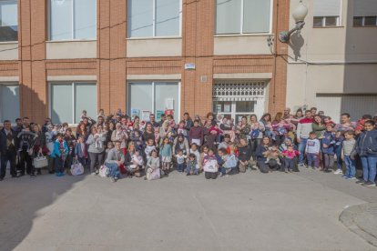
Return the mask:
[[359, 156], [377, 156], [377, 130], [364, 131], [357, 139], [356, 151]]

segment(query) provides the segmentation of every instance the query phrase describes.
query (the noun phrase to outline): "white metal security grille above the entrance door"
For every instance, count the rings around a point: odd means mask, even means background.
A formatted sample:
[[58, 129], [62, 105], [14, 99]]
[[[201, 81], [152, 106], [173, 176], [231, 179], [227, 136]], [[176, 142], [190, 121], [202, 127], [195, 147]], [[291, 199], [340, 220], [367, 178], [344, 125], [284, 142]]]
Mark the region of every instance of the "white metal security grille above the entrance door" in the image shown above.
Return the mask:
[[265, 95], [266, 82], [216, 83], [212, 97], [215, 101], [256, 100]]

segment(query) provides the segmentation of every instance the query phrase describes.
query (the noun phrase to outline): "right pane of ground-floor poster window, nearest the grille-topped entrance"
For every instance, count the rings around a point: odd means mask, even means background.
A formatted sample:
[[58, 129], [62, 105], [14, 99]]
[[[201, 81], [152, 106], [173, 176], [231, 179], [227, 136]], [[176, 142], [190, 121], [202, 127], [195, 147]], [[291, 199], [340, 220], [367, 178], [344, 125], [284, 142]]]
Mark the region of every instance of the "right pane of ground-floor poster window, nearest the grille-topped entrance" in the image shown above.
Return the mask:
[[155, 83], [155, 113], [157, 110], [174, 110], [174, 119], [178, 121], [178, 83]]

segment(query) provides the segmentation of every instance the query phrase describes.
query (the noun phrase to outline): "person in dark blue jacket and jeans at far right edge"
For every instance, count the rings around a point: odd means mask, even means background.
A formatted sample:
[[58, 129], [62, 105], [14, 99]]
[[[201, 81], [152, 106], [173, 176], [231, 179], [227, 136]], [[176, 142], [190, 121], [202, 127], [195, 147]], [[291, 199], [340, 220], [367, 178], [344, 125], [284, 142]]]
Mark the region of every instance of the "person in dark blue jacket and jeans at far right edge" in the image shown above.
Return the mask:
[[377, 129], [375, 123], [367, 120], [364, 123], [364, 131], [357, 140], [356, 150], [362, 159], [362, 184], [365, 186], [376, 186], [377, 166]]

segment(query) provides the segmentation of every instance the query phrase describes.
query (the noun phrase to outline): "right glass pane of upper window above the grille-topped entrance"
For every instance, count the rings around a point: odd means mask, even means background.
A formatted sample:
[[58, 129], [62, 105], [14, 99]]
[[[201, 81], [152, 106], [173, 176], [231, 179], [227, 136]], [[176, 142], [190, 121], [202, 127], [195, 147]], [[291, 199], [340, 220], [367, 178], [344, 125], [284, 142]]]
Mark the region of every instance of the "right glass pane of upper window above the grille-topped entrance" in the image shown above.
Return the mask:
[[243, 0], [243, 32], [270, 32], [270, 0]]

